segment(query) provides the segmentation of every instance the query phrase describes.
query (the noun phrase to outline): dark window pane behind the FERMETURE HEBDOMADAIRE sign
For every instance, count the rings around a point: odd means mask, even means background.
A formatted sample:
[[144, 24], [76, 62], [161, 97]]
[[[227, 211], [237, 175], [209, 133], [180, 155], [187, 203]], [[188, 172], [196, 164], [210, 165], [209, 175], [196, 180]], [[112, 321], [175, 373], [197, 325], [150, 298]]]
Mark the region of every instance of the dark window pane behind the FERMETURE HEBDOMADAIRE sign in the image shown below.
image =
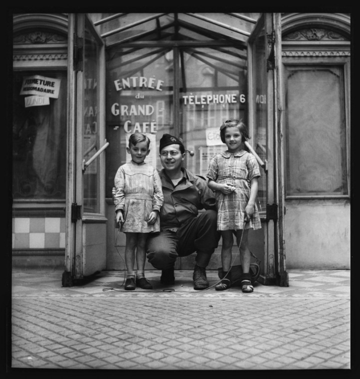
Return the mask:
[[[20, 95], [24, 78], [59, 83], [57, 98]], [[66, 74], [55, 71], [13, 72], [13, 199], [65, 199]], [[31, 91], [30, 91], [31, 92]]]

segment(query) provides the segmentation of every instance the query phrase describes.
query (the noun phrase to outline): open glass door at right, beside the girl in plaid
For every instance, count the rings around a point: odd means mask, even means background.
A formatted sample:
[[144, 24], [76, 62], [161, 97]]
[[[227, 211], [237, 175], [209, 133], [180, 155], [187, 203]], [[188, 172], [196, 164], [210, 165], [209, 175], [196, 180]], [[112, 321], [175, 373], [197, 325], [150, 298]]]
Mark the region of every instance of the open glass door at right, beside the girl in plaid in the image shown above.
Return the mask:
[[286, 285], [280, 51], [280, 15], [262, 14], [248, 40], [249, 125], [253, 149], [263, 162], [258, 189], [264, 238], [260, 280]]

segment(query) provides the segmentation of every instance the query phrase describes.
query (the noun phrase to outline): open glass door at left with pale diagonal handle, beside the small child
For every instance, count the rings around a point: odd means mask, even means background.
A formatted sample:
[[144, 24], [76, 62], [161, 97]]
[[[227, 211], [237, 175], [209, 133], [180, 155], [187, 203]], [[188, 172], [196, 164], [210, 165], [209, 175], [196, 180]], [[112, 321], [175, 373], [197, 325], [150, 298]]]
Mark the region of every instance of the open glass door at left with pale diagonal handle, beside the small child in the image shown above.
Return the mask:
[[105, 268], [104, 47], [84, 14], [69, 15], [66, 246], [63, 286]]

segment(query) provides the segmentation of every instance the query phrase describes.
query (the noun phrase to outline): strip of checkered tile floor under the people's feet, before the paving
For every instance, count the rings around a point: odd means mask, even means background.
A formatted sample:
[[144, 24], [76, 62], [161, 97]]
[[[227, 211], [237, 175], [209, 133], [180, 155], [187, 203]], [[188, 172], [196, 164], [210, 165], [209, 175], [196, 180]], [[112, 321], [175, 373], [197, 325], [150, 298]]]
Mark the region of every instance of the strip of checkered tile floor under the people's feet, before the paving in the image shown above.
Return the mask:
[[[15, 270], [12, 274], [12, 293], [16, 297], [349, 297], [349, 270], [289, 270], [289, 286], [254, 284], [254, 292], [242, 293], [239, 287], [226, 291], [215, 291], [214, 284], [219, 280], [217, 271], [207, 271], [210, 288], [195, 291], [192, 287], [192, 271], [175, 271], [175, 284], [161, 285], [160, 271], [146, 271], [146, 278], [152, 283], [152, 290], [136, 288], [123, 289], [123, 271], [102, 271], [88, 283], [73, 287], [61, 287], [61, 271], [40, 271], [34, 274], [29, 270]], [[172, 292], [169, 292], [172, 291]]]

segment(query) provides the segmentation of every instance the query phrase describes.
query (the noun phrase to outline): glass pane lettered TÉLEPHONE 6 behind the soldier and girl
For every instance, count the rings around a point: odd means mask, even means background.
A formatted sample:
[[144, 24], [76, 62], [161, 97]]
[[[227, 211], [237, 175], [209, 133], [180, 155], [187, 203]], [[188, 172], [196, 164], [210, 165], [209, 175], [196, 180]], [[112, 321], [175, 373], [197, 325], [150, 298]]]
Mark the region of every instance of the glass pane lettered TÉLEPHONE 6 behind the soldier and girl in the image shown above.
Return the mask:
[[213, 155], [226, 150], [220, 125], [227, 119], [246, 120], [246, 53], [235, 48], [184, 49], [180, 88], [180, 123], [185, 166], [206, 176]]

